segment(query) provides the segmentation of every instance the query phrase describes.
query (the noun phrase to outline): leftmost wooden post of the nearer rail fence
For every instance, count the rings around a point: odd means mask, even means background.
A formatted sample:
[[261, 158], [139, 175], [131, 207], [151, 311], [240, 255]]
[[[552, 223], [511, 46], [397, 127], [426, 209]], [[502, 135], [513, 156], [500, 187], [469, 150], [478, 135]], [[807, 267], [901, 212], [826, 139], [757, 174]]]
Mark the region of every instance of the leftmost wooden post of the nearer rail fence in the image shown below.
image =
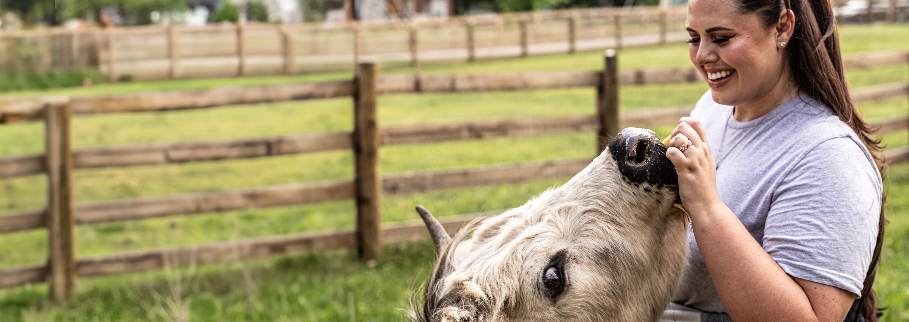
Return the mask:
[[47, 277], [53, 301], [70, 297], [75, 291], [73, 155], [69, 120], [68, 101], [45, 102]]

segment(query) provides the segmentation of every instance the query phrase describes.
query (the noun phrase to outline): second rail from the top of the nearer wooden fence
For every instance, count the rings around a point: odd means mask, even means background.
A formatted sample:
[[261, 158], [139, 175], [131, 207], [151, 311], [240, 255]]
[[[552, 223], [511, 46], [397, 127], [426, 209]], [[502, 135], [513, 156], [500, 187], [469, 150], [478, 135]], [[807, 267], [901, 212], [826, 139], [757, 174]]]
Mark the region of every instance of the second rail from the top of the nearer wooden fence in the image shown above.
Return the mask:
[[[656, 126], [687, 116], [690, 107], [674, 107], [620, 115], [620, 126]], [[383, 145], [503, 136], [538, 136], [593, 132], [594, 116], [506, 119], [499, 121], [389, 126], [380, 129]], [[205, 140], [135, 146], [85, 147], [74, 150], [76, 168], [104, 166], [149, 166], [169, 163], [280, 156], [343, 150], [352, 147], [350, 133], [267, 136], [248, 139]], [[45, 172], [44, 155], [0, 158], [0, 177]]]

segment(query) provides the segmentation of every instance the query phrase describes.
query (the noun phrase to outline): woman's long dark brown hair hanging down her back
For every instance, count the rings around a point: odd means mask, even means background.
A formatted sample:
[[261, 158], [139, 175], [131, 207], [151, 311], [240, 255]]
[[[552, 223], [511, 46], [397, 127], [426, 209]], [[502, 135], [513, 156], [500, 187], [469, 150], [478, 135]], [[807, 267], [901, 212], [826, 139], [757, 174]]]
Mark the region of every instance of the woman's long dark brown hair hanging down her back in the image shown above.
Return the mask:
[[[878, 170], [883, 170], [883, 146], [880, 139], [874, 139], [877, 130], [868, 125], [859, 114], [846, 86], [840, 39], [836, 33], [836, 18], [830, 0], [738, 0], [737, 6], [744, 14], [757, 15], [766, 28], [779, 22], [783, 10], [791, 9], [794, 12], [793, 36], [785, 50], [790, 67], [797, 67], [791, 68], [795, 83], [805, 94], [830, 108], [834, 115], [852, 127], [868, 152], [874, 156]], [[857, 316], [864, 317], [867, 322], [877, 322], [877, 317], [881, 316], [878, 311], [883, 310], [877, 307], [877, 294], [872, 286], [881, 261], [881, 244], [884, 242], [885, 199], [884, 196], [881, 200], [877, 244], [864, 277], [862, 297], [855, 300]]]

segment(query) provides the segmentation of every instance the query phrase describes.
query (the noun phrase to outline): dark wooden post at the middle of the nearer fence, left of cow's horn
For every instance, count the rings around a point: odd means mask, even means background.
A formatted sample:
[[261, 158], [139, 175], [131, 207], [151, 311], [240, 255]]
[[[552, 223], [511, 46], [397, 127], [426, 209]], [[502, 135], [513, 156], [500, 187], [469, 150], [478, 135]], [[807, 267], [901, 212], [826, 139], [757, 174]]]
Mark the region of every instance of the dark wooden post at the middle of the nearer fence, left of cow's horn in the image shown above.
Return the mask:
[[372, 260], [382, 252], [379, 198], [379, 130], [376, 110], [375, 63], [356, 65], [354, 94], [354, 158], [356, 196], [356, 241], [360, 258]]

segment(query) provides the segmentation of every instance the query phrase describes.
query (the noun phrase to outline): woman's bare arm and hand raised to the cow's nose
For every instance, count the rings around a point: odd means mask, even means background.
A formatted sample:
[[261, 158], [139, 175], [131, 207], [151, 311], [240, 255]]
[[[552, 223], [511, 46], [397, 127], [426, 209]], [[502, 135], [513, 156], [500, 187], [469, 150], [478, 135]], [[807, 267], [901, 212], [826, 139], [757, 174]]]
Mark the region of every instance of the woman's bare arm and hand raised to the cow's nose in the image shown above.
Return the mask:
[[[683, 117], [671, 137], [666, 156], [678, 173], [679, 196], [730, 317], [736, 322], [843, 321], [854, 294], [790, 277], [720, 200], [714, 156], [701, 122]], [[686, 140], [692, 146], [683, 153], [678, 147]]]

